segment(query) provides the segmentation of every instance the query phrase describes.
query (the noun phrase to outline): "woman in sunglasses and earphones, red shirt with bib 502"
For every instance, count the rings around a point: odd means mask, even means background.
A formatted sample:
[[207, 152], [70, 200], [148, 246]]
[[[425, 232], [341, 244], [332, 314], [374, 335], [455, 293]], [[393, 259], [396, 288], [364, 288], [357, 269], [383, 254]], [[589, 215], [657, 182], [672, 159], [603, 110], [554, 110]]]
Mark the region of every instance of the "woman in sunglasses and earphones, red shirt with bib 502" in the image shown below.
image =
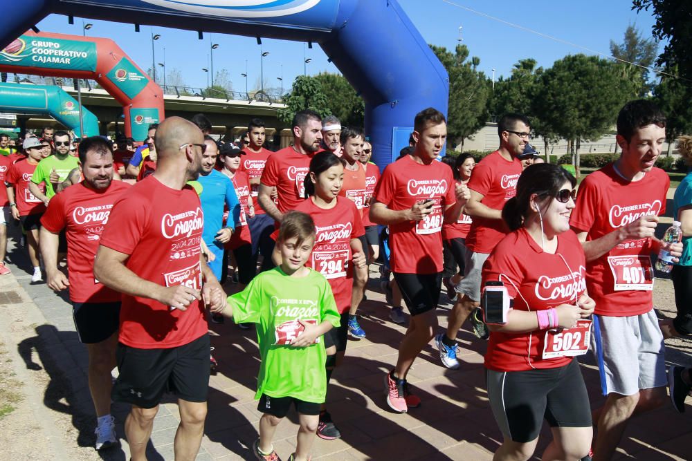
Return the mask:
[[488, 397], [504, 436], [495, 461], [531, 458], [544, 418], [553, 440], [541, 459], [579, 460], [590, 450], [591, 410], [576, 356], [588, 350], [595, 303], [570, 229], [575, 185], [556, 165], [528, 167], [502, 209], [512, 232], [483, 267]]

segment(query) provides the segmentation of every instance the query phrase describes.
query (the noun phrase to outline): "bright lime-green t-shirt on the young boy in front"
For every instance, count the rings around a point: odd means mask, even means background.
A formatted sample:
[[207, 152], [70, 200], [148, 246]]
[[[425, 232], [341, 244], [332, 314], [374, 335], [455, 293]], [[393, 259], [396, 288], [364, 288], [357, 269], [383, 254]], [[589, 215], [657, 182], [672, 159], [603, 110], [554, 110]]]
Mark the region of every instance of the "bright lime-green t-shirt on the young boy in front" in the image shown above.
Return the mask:
[[255, 399], [264, 393], [269, 397], [324, 403], [327, 395], [324, 338], [305, 348], [275, 342], [280, 335], [277, 327], [284, 322], [301, 319], [319, 324], [326, 320], [334, 327], [339, 326], [334, 294], [325, 276], [310, 270], [307, 276], [292, 277], [275, 267], [257, 275], [242, 292], [228, 297], [228, 303], [236, 323], [257, 323], [262, 363]]

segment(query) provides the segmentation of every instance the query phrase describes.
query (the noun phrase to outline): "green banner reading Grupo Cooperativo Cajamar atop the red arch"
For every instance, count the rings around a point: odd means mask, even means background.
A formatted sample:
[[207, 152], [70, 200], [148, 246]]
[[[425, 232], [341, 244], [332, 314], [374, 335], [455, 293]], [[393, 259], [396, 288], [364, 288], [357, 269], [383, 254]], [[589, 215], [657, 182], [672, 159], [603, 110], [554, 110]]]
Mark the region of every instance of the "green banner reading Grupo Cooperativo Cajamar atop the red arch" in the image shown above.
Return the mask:
[[22, 35], [0, 51], [0, 64], [93, 72], [96, 44]]

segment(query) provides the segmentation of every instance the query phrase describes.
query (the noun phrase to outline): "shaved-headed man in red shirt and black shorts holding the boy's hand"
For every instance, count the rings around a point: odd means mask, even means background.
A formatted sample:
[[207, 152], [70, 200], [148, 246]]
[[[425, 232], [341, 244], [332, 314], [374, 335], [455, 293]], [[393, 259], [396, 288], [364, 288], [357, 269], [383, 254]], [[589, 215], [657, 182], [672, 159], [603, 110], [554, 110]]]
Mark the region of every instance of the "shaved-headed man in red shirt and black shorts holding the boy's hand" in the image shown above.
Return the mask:
[[[187, 185], [199, 176], [204, 136], [180, 117], [156, 131], [158, 167], [113, 206], [94, 276], [122, 293], [118, 370], [113, 400], [129, 402], [125, 421], [131, 459], [146, 459], [163, 393], [178, 397], [176, 459], [194, 460], [204, 431], [209, 386], [206, 305], [226, 302], [200, 251], [203, 216]], [[147, 203], [131, 207], [130, 203]]]

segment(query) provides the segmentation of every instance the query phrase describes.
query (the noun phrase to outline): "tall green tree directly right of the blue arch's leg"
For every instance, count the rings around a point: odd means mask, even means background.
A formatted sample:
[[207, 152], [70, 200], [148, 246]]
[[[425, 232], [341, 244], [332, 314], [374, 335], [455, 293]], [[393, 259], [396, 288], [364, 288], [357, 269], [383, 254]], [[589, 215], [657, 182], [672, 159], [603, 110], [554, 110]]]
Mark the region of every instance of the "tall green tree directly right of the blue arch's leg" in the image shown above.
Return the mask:
[[447, 135], [453, 142], [461, 142], [484, 126], [487, 120], [487, 102], [490, 92], [488, 79], [475, 70], [480, 58], [468, 58], [466, 45], [457, 45], [455, 53], [447, 48], [430, 45], [449, 75], [449, 105], [447, 109]]

